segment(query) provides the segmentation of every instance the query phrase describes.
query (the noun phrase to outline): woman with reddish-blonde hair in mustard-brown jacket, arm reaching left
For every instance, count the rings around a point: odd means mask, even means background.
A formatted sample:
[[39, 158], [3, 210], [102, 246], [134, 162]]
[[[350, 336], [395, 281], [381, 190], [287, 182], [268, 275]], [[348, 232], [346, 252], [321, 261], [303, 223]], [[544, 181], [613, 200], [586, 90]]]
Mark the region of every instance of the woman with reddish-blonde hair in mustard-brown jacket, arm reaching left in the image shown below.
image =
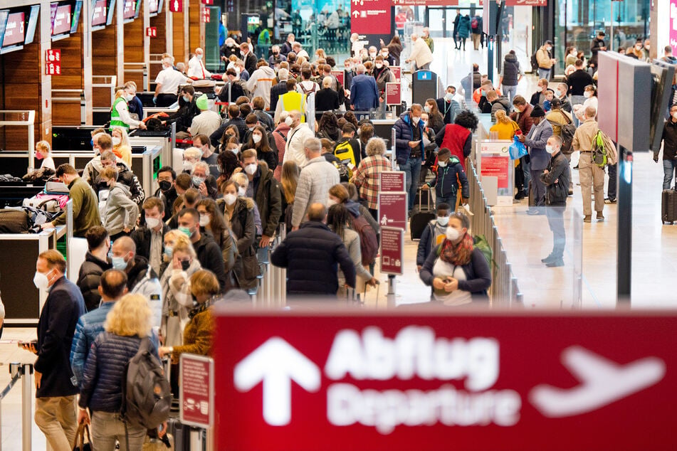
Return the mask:
[[196, 306], [189, 313], [189, 322], [184, 329], [184, 344], [162, 346], [159, 355], [172, 354], [172, 362], [179, 362], [179, 355], [187, 352], [200, 356], [211, 355], [214, 336], [214, 319], [211, 306], [219, 299], [219, 280], [210, 270], [199, 270], [190, 277], [190, 293]]

